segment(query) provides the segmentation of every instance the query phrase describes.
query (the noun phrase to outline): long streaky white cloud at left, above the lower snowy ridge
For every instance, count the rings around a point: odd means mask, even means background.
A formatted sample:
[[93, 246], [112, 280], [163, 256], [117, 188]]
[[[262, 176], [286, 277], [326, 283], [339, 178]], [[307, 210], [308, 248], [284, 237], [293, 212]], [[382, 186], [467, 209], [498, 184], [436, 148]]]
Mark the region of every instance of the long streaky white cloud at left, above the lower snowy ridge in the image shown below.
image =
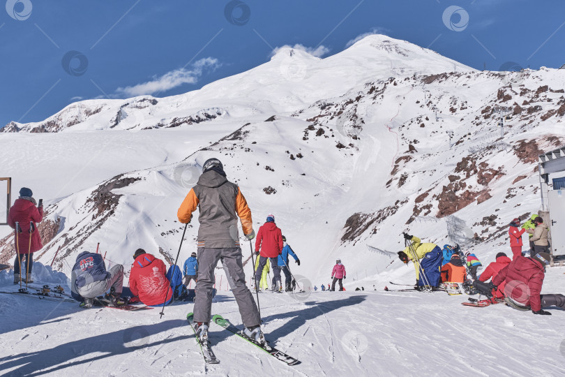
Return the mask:
[[191, 69], [179, 68], [167, 72], [160, 77], [154, 76], [151, 81], [142, 82], [132, 87], [119, 87], [116, 89], [116, 94], [128, 97], [143, 96], [160, 91], [167, 91], [179, 87], [182, 84], [195, 84], [199, 77], [202, 76], [204, 68], [216, 69], [220, 65], [218, 59], [207, 57], [195, 62]]

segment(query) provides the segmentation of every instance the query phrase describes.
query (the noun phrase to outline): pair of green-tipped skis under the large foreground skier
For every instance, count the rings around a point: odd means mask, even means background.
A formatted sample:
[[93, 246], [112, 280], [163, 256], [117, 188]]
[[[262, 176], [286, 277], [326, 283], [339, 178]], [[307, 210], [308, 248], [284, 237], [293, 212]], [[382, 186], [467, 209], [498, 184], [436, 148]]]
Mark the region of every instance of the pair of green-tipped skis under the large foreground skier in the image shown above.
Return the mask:
[[[195, 322], [194, 322], [194, 313], [188, 313], [188, 315], [186, 316], [186, 319], [188, 320], [188, 323], [190, 323], [190, 328], [193, 329], [193, 332], [194, 332], [195, 337], [196, 337], [196, 341], [197, 341], [198, 345], [200, 346], [200, 350], [202, 350], [202, 355], [204, 356], [204, 361], [207, 364], [218, 364], [219, 361], [216, 358], [216, 355], [214, 355], [214, 353], [213, 353], [213, 350], [212, 350], [211, 345], [210, 345], [210, 341], [207, 338], [206, 339], [200, 339], [198, 337], [198, 335], [196, 334]], [[267, 342], [265, 342], [264, 344], [261, 344], [261, 343], [257, 343], [255, 341], [255, 339], [251, 339], [249, 337], [246, 337], [243, 334], [242, 330], [239, 330], [239, 328], [237, 328], [235, 325], [233, 325], [231, 322], [229, 322], [229, 320], [223, 318], [222, 316], [220, 316], [218, 314], [216, 314], [216, 316], [212, 317], [212, 322], [216, 323], [216, 325], [223, 327], [225, 330], [232, 332], [233, 334], [237, 335], [241, 339], [244, 339], [244, 340], [248, 341], [249, 343], [252, 343], [257, 348], [264, 350], [264, 352], [269, 353], [269, 355], [275, 357], [277, 360], [280, 360], [287, 365], [296, 365], [296, 364], [299, 363], [299, 360], [296, 359], [295, 357], [289, 356], [286, 353], [269, 346], [269, 343], [267, 343]]]

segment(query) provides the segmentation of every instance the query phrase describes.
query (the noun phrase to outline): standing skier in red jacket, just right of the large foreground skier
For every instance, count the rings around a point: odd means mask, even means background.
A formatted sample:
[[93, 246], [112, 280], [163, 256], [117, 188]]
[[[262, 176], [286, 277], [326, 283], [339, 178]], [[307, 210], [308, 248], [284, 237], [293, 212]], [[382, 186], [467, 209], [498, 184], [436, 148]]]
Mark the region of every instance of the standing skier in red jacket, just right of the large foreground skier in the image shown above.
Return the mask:
[[[261, 281], [261, 274], [263, 267], [266, 265], [267, 258], [271, 259], [273, 280], [280, 281], [280, 269], [274, 267], [278, 266], [278, 255], [283, 252], [283, 246], [283, 232], [277, 228], [275, 216], [270, 214], [267, 216], [266, 223], [259, 227], [257, 240], [255, 241], [255, 253], [259, 256], [259, 265], [257, 265], [255, 271], [255, 289], [257, 289], [259, 281]], [[271, 290], [274, 292], [275, 287], [271, 287]]]

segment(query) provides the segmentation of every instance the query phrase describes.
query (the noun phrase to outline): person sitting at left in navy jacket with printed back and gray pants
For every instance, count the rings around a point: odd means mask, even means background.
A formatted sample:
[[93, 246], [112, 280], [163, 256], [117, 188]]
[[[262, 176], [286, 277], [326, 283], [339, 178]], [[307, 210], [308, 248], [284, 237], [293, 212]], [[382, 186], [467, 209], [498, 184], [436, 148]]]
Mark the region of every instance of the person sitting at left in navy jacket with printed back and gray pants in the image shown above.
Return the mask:
[[70, 274], [70, 294], [81, 306], [89, 308], [94, 297], [110, 290], [110, 305], [115, 305], [123, 289], [123, 266], [113, 265], [110, 271], [100, 254], [83, 251], [77, 256]]

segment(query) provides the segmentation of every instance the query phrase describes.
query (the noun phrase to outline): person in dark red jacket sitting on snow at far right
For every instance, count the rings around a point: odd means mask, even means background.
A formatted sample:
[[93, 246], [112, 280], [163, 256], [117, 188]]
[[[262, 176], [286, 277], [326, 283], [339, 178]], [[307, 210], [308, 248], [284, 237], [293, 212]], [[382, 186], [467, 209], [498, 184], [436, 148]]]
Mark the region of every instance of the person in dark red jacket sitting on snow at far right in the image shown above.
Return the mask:
[[500, 270], [492, 280], [492, 288], [506, 283], [504, 286], [504, 300], [510, 306], [521, 306], [532, 309], [534, 314], [550, 315], [549, 311], [542, 308], [559, 306], [565, 309], [564, 295], [540, 295], [545, 266], [550, 264], [551, 256], [548, 253], [536, 253], [527, 258], [518, 256]]

